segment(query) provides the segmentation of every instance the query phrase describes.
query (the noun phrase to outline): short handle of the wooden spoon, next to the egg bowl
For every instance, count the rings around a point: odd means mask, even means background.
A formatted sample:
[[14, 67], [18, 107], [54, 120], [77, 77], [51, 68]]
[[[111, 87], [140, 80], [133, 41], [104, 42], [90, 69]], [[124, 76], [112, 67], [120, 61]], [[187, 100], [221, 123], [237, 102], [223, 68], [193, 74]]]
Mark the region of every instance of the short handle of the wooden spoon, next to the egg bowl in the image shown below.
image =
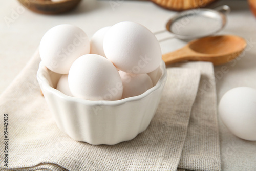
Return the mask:
[[191, 60], [191, 56], [184, 49], [179, 49], [174, 52], [163, 54], [162, 59], [166, 65], [169, 65], [184, 60]]

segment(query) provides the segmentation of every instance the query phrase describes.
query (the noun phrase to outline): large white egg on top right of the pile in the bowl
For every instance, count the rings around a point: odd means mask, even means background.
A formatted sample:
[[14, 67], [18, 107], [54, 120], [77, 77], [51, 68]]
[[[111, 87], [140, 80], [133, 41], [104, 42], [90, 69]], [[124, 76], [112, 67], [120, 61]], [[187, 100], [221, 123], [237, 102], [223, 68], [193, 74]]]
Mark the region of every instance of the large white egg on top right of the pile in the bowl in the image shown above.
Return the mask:
[[161, 62], [161, 48], [155, 35], [134, 22], [120, 22], [106, 32], [103, 49], [114, 65], [124, 72], [145, 74]]

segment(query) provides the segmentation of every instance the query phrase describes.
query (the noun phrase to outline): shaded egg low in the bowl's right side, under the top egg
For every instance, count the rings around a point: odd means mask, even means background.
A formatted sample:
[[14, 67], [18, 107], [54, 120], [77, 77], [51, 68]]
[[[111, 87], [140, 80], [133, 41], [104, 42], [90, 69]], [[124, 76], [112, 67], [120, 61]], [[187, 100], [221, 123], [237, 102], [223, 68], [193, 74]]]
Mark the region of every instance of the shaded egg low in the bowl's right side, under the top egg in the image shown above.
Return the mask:
[[153, 87], [152, 80], [147, 74], [131, 74], [119, 71], [123, 83], [122, 99], [138, 96]]

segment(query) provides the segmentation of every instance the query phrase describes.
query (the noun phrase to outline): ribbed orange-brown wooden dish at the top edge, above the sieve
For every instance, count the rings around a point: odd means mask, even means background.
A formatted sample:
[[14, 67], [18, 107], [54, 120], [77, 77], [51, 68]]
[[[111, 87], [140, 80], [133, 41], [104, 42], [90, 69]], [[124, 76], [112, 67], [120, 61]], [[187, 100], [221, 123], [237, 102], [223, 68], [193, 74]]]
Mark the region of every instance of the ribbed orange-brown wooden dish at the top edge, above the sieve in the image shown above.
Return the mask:
[[184, 11], [205, 7], [215, 0], [151, 0], [153, 3], [169, 10]]

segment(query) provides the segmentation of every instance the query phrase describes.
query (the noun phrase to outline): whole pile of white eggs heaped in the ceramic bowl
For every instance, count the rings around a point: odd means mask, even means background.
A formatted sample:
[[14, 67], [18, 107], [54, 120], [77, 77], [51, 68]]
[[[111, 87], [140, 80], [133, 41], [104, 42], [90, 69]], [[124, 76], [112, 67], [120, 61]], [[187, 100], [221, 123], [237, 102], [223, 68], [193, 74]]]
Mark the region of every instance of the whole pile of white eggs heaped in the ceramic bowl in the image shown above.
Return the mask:
[[147, 73], [161, 62], [155, 35], [134, 22], [98, 30], [91, 39], [76, 26], [63, 24], [42, 37], [39, 54], [51, 71], [62, 74], [56, 89], [87, 100], [120, 100], [153, 87]]

